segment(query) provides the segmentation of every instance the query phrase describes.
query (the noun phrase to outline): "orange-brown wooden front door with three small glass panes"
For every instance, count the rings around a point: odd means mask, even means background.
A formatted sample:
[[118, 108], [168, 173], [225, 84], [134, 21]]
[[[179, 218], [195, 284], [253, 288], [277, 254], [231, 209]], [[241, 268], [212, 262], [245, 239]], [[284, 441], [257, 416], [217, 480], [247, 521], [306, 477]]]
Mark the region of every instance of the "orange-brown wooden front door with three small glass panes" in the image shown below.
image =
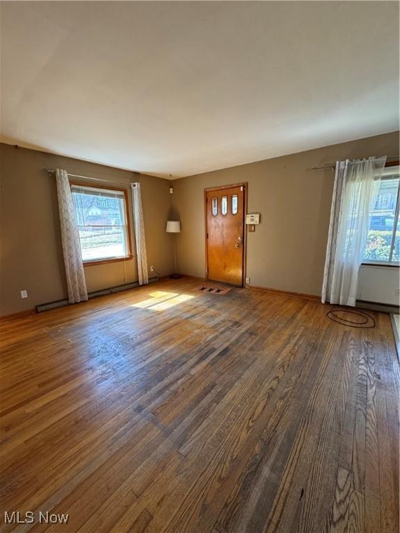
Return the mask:
[[245, 185], [206, 189], [207, 279], [243, 285]]

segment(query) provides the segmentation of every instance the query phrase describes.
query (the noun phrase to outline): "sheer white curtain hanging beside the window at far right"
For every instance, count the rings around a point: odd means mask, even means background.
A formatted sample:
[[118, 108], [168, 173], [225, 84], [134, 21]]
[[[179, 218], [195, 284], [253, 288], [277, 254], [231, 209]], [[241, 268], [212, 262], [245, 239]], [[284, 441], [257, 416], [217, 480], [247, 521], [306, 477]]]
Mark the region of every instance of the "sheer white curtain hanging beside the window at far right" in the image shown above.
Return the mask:
[[336, 163], [322, 303], [356, 305], [369, 220], [386, 158]]

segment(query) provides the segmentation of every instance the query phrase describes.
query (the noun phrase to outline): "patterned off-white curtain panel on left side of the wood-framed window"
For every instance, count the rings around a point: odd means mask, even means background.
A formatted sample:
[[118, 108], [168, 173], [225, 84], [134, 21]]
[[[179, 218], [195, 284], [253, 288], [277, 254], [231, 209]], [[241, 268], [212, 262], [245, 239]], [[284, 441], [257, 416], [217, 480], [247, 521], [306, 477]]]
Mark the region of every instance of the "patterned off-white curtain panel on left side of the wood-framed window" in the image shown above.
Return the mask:
[[72, 198], [67, 171], [57, 169], [56, 181], [68, 300], [69, 303], [76, 303], [88, 300], [88, 290], [86, 289], [85, 273], [83, 271], [81, 242], [79, 241], [76, 223], [74, 199]]

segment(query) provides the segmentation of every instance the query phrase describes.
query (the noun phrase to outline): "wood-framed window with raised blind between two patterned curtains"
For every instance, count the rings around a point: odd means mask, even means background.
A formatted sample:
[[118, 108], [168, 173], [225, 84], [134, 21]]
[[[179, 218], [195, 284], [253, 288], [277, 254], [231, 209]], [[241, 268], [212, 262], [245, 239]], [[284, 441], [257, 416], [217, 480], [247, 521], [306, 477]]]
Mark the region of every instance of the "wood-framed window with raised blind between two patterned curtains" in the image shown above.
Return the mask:
[[83, 262], [131, 257], [126, 191], [72, 185]]

